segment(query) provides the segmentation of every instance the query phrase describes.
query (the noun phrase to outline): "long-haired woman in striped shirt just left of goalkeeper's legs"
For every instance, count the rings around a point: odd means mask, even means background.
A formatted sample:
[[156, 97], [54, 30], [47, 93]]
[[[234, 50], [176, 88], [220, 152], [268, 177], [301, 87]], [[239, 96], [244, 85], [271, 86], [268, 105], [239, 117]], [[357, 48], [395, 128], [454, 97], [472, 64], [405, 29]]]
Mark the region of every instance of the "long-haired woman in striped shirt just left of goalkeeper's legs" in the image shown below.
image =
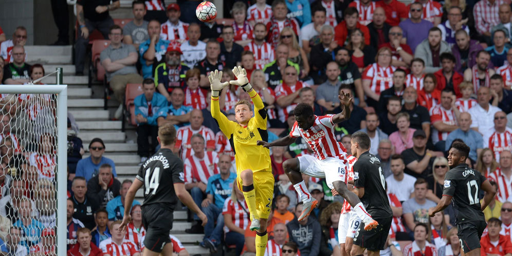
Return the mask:
[[236, 254], [240, 255], [245, 244], [245, 229], [251, 222], [249, 208], [245, 202], [244, 194], [236, 182], [233, 182], [231, 198], [226, 199], [222, 214], [224, 215], [224, 232], [226, 245], [236, 245]]

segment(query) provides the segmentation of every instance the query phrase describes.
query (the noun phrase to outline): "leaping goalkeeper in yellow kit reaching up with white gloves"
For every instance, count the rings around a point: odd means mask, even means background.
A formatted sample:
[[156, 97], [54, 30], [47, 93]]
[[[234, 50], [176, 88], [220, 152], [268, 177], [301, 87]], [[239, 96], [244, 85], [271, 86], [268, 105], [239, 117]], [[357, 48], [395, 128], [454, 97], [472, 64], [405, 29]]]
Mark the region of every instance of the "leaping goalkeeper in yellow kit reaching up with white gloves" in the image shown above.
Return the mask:
[[[258, 140], [268, 140], [267, 112], [260, 96], [249, 84], [247, 71], [238, 66], [233, 68], [233, 74], [236, 80], [221, 83], [222, 71], [210, 72], [211, 114], [235, 154], [237, 184], [249, 206], [250, 229], [256, 230], [256, 256], [263, 256], [267, 246], [267, 219], [272, 205], [274, 177], [269, 150], [256, 143]], [[222, 88], [229, 84], [241, 86], [254, 103], [254, 112], [249, 101], [236, 103], [234, 109], [237, 122], [228, 120], [218, 104]]]

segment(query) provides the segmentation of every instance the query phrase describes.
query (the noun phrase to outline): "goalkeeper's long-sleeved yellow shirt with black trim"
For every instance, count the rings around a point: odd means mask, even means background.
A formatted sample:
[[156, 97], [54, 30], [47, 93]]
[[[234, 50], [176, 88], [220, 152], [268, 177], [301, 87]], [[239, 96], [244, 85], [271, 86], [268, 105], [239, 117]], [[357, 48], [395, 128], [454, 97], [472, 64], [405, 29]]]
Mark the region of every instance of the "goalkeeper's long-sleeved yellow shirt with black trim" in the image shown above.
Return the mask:
[[250, 169], [253, 172], [272, 171], [270, 151], [256, 144], [258, 140], [267, 141], [267, 112], [258, 93], [250, 90], [249, 96], [254, 103], [254, 117], [247, 126], [230, 121], [218, 105], [218, 97], [211, 98], [211, 114], [217, 120], [221, 131], [226, 135], [235, 154], [236, 173]]

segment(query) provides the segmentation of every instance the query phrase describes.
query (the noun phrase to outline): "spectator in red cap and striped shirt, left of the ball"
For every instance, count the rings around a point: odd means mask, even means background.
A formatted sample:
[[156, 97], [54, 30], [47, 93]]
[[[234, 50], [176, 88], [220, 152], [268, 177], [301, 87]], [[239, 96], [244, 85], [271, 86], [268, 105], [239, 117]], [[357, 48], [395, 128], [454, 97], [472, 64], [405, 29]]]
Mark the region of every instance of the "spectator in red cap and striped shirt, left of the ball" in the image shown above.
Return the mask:
[[187, 41], [189, 39], [187, 36], [189, 24], [179, 20], [179, 16], [181, 16], [179, 6], [170, 4], [167, 7], [167, 16], [169, 20], [160, 25], [160, 38], [168, 41], [176, 40], [180, 43]]

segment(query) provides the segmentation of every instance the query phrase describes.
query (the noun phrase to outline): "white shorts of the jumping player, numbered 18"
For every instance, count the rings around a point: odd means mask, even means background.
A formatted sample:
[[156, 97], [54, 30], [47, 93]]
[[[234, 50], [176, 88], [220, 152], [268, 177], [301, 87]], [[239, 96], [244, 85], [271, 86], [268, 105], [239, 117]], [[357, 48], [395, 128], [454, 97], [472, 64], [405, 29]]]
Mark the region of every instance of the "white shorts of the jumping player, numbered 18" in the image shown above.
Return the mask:
[[325, 178], [327, 186], [333, 189], [334, 181], [345, 182], [346, 165], [343, 160], [327, 157], [323, 160], [310, 155], [297, 157], [299, 159], [299, 169], [301, 173], [305, 173], [312, 177]]

